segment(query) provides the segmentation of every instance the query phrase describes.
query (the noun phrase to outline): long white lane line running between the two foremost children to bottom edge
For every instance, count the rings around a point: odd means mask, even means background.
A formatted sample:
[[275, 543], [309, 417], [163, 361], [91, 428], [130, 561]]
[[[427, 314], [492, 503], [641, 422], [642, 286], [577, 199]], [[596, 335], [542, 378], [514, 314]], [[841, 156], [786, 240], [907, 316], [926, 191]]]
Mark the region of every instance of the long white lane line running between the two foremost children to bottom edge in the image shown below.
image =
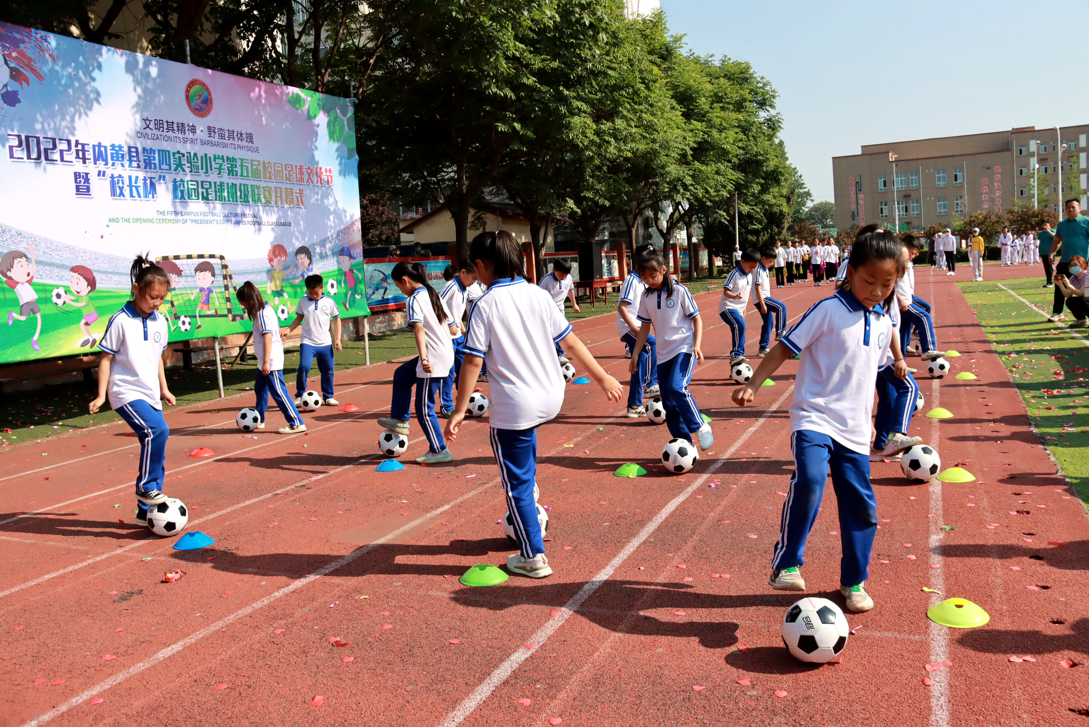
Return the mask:
[[649, 538], [654, 530], [658, 529], [665, 518], [670, 516], [673, 510], [677, 508], [685, 500], [687, 500], [692, 493], [696, 492], [703, 484], [703, 482], [709, 478], [715, 470], [722, 465], [729, 461], [731, 455], [741, 447], [749, 436], [751, 436], [757, 429], [759, 429], [764, 421], [767, 421], [772, 412], [778, 411], [780, 405], [783, 401], [790, 396], [794, 391], [794, 386], [788, 386], [787, 390], [779, 397], [772, 406], [770, 406], [763, 415], [749, 427], [744, 434], [742, 434], [734, 444], [723, 454], [719, 459], [717, 459], [707, 470], [706, 473], [696, 478], [696, 481], [690, 485], [685, 488], [681, 494], [671, 500], [665, 507], [658, 512], [658, 514], [646, 525], [643, 530], [638, 532], [627, 544], [621, 550], [620, 553], [602, 568], [589, 582], [587, 582], [579, 591], [571, 597], [571, 600], [560, 609], [560, 613], [550, 618], [546, 624], [537, 630], [531, 637], [526, 639], [525, 643], [536, 644], [533, 649], [526, 649], [519, 646], [514, 653], [506, 657], [502, 664], [500, 664], [494, 671], [492, 671], [487, 679], [485, 679], [480, 685], [473, 690], [473, 693], [465, 698], [464, 701], [457, 707], [446, 715], [440, 724], [440, 727], [455, 727], [460, 725], [466, 717], [473, 714], [479, 706], [487, 700], [495, 689], [506, 681], [507, 677], [514, 673], [518, 666], [529, 658], [538, 649], [540, 649], [550, 636], [555, 633], [555, 631], [563, 626], [563, 624], [571, 618], [579, 606], [589, 599], [595, 591], [597, 591], [601, 586], [609, 580], [609, 578], [615, 572], [616, 568], [621, 566], [624, 560], [627, 559], [635, 550], [643, 544], [643, 542]]

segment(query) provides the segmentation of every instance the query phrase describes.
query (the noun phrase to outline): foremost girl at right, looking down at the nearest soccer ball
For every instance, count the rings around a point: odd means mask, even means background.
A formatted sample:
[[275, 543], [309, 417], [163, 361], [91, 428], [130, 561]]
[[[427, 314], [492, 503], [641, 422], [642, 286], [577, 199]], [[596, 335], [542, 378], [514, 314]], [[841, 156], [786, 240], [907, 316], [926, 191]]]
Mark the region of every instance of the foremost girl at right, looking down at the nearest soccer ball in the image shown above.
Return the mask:
[[880, 227], [864, 231], [851, 255], [847, 285], [806, 311], [733, 395], [737, 406], [750, 404], [764, 380], [800, 354], [791, 404], [794, 475], [769, 582], [779, 591], [806, 590], [799, 568], [831, 468], [843, 547], [840, 593], [855, 613], [873, 607], [866, 592], [878, 527], [870, 485], [870, 414], [878, 371], [888, 366], [895, 334], [886, 311], [896, 304], [894, 288], [903, 272], [896, 236]]

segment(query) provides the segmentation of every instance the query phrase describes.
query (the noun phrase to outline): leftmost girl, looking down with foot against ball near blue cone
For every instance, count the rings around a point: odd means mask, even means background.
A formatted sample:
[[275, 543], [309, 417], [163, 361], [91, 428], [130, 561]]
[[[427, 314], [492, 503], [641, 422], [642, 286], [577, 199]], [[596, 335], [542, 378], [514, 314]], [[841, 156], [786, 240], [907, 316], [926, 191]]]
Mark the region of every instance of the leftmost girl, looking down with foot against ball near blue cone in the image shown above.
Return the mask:
[[137, 257], [129, 272], [132, 300], [110, 317], [98, 347], [98, 396], [90, 403], [97, 414], [106, 397], [139, 440], [136, 478], [136, 521], [147, 525], [147, 508], [166, 502], [162, 479], [167, 473], [167, 438], [162, 402], [173, 406], [167, 386], [162, 352], [167, 347], [167, 319], [156, 312], [170, 291], [170, 279], [151, 256]]

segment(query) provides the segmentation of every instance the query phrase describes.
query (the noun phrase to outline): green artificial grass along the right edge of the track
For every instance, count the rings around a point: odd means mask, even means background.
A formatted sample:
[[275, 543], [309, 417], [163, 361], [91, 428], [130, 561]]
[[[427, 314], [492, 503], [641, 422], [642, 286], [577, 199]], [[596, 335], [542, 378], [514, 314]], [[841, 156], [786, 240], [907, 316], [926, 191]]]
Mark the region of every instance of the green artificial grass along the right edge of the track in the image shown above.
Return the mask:
[[1044, 444], [1089, 503], [1089, 330], [1068, 329], [1069, 316], [1048, 322], [1000, 284], [1047, 313], [1053, 288], [1039, 278], [958, 283]]

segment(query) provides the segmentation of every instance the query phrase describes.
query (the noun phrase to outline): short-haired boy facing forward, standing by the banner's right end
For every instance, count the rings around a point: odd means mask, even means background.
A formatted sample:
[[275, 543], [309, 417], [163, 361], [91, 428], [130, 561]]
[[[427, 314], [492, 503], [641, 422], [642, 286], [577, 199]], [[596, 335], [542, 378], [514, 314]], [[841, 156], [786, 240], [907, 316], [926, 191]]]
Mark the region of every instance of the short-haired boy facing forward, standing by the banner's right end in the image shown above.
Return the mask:
[[[306, 381], [310, 375], [310, 366], [318, 359], [318, 371], [321, 372], [321, 398], [326, 406], [340, 404], [333, 398], [333, 369], [337, 364], [333, 348], [343, 350], [341, 343], [340, 309], [337, 301], [325, 294], [325, 281], [317, 273], [306, 276], [306, 295], [299, 298], [295, 307], [295, 320], [287, 333], [302, 324], [303, 343], [298, 349], [298, 371], [295, 373], [295, 406], [306, 391]], [[330, 322], [332, 335], [329, 334]]]

